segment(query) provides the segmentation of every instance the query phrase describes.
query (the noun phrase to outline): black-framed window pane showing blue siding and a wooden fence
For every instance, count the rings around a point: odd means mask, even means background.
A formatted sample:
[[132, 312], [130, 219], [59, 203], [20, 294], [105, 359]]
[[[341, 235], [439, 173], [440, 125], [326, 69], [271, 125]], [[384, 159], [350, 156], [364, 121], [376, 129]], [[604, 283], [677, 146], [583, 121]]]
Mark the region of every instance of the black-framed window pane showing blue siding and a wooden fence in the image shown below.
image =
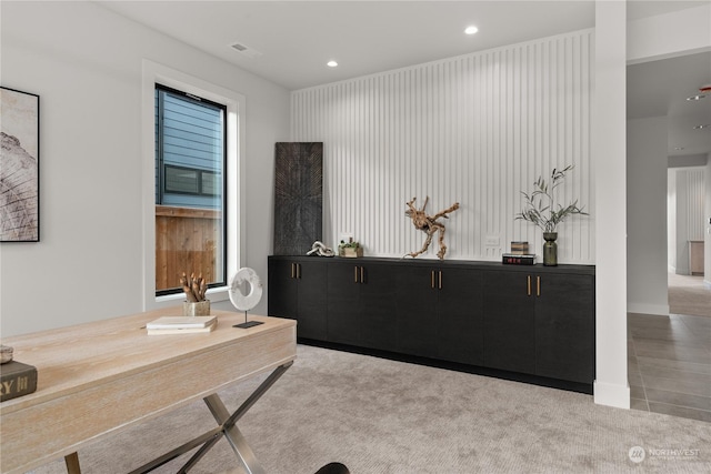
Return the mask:
[[156, 294], [227, 284], [227, 107], [156, 84]]

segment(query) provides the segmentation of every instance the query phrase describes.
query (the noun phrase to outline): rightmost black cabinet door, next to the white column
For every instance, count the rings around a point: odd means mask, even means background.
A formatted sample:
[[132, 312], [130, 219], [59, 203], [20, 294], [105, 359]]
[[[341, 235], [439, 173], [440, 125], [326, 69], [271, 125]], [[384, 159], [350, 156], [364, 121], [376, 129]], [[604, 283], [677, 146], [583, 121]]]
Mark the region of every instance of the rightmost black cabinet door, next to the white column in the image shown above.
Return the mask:
[[535, 374], [590, 384], [594, 377], [594, 279], [542, 274], [535, 299]]

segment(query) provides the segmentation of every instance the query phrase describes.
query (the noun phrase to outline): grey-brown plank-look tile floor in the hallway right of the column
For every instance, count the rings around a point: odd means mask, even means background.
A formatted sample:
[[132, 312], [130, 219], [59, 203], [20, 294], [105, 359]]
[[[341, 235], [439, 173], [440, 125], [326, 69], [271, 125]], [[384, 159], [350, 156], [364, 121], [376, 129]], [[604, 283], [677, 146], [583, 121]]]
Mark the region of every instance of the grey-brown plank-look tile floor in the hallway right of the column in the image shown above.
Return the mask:
[[630, 407], [711, 423], [711, 317], [628, 314]]

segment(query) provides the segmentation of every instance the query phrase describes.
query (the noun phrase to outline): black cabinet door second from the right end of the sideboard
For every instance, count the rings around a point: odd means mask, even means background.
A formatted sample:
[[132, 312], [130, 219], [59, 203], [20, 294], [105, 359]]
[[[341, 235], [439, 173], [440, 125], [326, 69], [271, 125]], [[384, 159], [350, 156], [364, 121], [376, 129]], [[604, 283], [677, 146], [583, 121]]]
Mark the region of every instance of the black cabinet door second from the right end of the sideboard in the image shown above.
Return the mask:
[[535, 294], [529, 291], [529, 278], [523, 272], [491, 271], [483, 275], [485, 366], [535, 372]]

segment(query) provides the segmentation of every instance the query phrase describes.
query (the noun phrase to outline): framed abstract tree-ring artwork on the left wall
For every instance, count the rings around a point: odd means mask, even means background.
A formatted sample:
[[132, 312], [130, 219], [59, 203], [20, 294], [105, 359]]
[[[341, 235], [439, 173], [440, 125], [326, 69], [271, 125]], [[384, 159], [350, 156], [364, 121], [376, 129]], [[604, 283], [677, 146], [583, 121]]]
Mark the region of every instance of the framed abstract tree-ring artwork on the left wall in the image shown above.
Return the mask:
[[0, 87], [0, 242], [39, 242], [39, 95]]

